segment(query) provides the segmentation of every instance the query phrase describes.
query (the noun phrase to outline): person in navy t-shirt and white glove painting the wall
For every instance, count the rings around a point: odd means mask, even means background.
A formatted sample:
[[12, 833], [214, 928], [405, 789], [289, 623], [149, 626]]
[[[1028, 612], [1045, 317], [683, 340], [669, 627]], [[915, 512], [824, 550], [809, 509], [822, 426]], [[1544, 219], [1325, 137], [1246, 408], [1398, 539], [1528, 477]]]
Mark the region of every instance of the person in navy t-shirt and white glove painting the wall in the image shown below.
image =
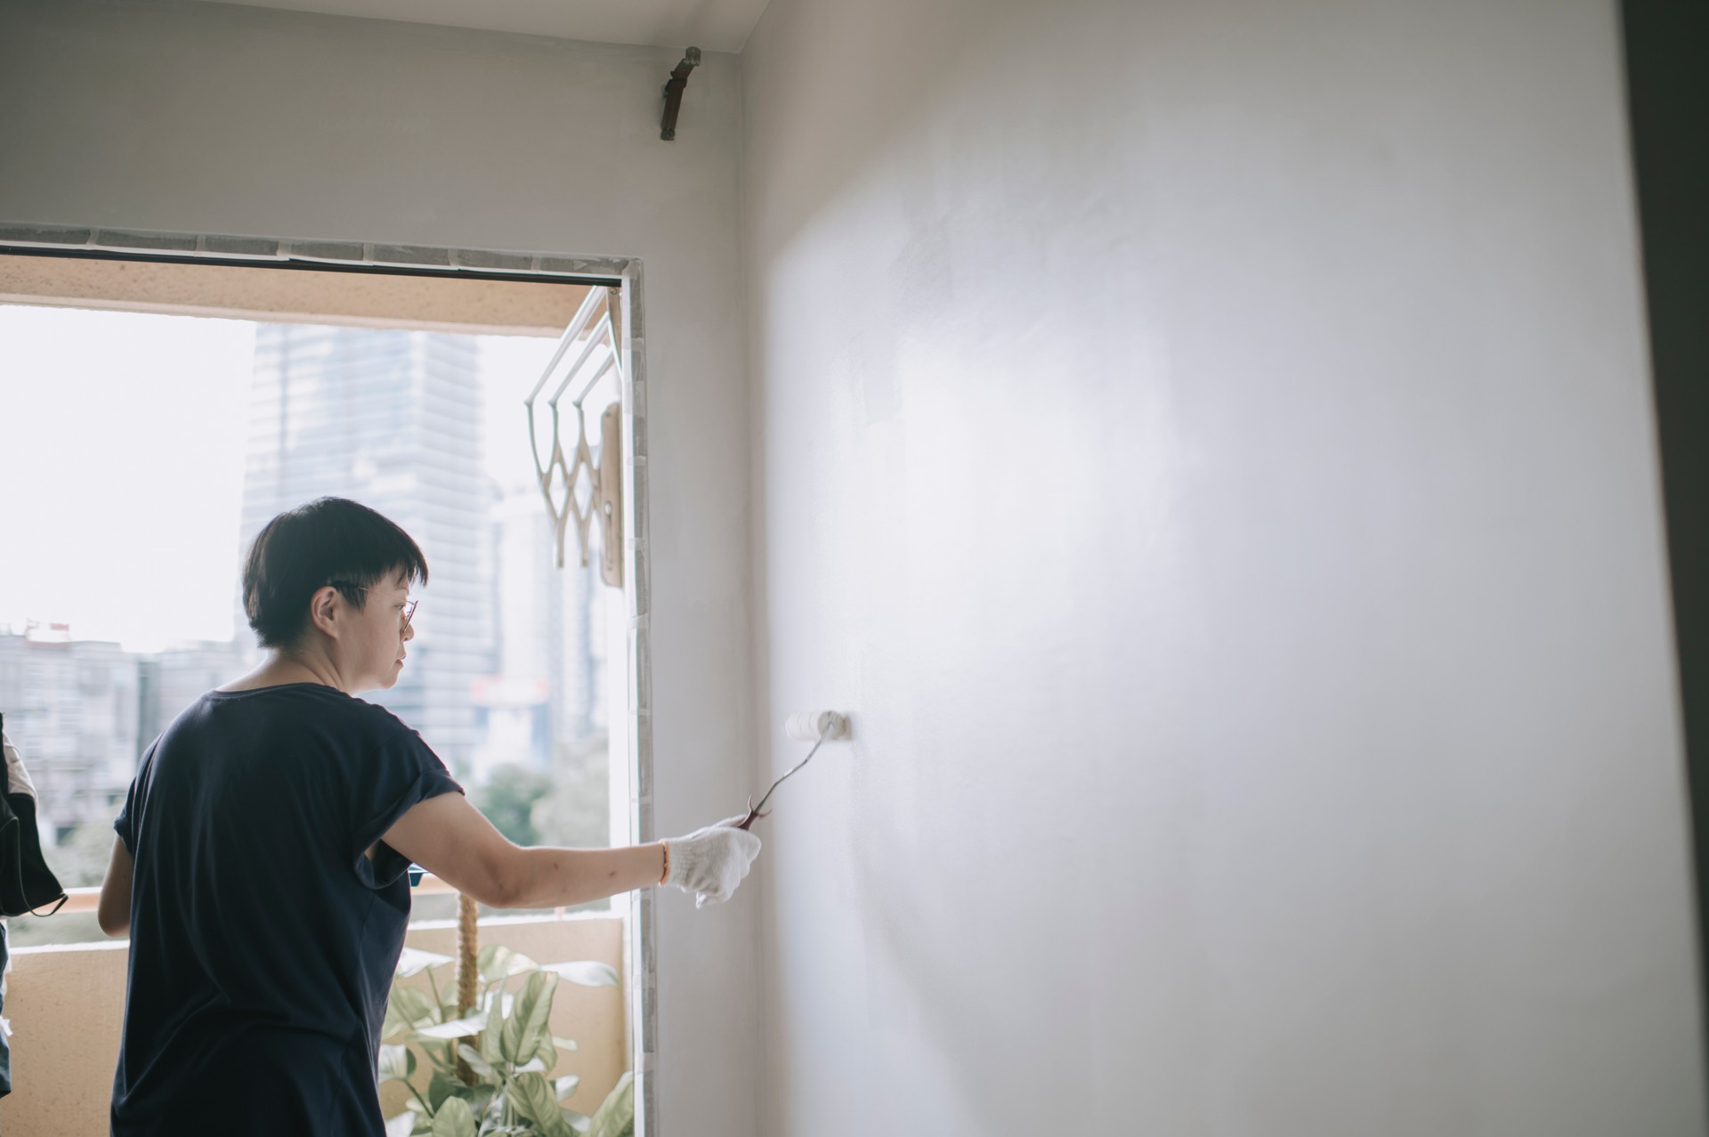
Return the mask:
[[321, 498], [255, 539], [243, 604], [267, 662], [149, 747], [101, 886], [130, 934], [113, 1134], [381, 1137], [376, 1055], [415, 862], [496, 908], [653, 884], [730, 896], [759, 838], [709, 826], [631, 848], [518, 848], [420, 735], [354, 698], [390, 687], [427, 561]]

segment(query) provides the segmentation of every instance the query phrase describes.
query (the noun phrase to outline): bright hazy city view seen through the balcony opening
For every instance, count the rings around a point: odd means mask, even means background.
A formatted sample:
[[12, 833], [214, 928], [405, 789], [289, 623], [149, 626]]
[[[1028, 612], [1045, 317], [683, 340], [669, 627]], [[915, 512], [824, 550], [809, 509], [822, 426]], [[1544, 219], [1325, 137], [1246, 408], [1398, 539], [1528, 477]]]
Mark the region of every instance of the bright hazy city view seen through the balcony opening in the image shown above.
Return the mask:
[[[612, 776], [627, 766], [622, 590], [600, 580], [598, 525], [590, 568], [555, 568], [525, 450], [552, 340], [9, 304], [0, 344], [15, 380], [0, 515], [36, 551], [0, 564], [0, 706], [67, 887], [99, 884], [154, 737], [258, 662], [241, 551], [321, 494], [393, 518], [432, 566], [410, 667], [364, 698], [420, 730], [518, 843], [631, 839]], [[610, 366], [584, 395], [620, 398]], [[581, 426], [598, 451], [598, 419]], [[417, 896], [412, 923], [455, 903]], [[104, 939], [70, 913], [10, 932], [15, 947]]]

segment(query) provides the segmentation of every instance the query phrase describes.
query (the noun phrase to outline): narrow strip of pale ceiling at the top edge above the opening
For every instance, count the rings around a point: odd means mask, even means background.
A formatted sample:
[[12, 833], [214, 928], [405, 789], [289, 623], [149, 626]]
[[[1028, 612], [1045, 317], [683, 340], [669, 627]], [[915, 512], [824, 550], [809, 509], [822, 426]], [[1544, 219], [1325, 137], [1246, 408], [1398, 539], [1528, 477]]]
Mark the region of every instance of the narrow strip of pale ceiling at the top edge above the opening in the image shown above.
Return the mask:
[[767, 0], [226, 0], [593, 43], [740, 51]]

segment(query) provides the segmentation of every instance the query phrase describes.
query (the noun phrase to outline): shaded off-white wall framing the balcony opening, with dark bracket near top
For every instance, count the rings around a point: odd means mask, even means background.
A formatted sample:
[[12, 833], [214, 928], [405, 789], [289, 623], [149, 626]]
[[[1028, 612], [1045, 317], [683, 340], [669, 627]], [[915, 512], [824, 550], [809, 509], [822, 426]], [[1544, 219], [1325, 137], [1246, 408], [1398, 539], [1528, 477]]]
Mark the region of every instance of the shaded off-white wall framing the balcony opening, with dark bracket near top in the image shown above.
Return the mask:
[[[207, 3], [0, 0], [0, 222], [639, 256], [656, 821], [749, 792], [740, 75], [617, 48]], [[661, 1116], [754, 1132], [754, 904], [660, 898]]]

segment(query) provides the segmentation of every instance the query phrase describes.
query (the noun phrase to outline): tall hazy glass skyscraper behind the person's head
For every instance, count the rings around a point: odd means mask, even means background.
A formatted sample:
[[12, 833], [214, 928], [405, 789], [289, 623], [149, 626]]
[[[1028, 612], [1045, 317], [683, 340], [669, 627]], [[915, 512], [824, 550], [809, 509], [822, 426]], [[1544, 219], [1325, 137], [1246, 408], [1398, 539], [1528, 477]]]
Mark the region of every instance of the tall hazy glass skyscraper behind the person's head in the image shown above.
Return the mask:
[[[455, 769], [477, 742], [473, 687], [494, 670], [494, 597], [475, 342], [432, 332], [260, 325], [243, 544], [325, 494], [402, 525], [432, 573], [398, 686], [371, 692]], [[239, 627], [244, 622], [239, 621]]]

